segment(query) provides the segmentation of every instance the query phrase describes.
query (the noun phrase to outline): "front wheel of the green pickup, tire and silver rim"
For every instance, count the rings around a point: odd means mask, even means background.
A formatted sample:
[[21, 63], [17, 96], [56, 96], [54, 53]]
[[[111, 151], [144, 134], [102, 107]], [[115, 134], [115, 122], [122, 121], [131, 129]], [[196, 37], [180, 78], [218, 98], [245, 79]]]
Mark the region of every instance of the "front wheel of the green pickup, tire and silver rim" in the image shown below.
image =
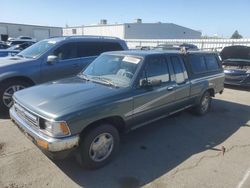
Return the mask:
[[119, 150], [119, 142], [119, 133], [111, 124], [100, 124], [89, 130], [80, 142], [81, 165], [88, 169], [106, 165]]

